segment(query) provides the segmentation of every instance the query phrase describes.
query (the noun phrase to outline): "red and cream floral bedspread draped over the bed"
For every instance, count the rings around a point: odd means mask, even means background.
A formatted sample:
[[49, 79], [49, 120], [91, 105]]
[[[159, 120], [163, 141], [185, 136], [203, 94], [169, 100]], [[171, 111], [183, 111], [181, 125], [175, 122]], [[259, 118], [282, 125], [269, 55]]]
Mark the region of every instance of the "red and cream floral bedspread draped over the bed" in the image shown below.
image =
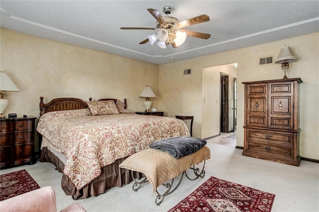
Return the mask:
[[137, 114], [90, 115], [88, 109], [43, 114], [37, 131], [65, 153], [64, 174], [77, 189], [101, 174], [101, 167], [147, 149], [153, 141], [189, 136], [179, 119]]

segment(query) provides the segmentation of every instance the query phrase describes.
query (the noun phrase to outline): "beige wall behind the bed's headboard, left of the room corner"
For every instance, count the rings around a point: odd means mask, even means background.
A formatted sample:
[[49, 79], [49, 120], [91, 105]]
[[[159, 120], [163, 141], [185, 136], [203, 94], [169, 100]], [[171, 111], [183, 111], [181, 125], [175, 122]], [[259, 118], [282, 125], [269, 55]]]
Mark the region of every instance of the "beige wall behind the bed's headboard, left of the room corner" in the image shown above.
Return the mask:
[[[139, 98], [149, 85], [158, 94], [158, 65], [72, 46], [1, 28], [1, 64], [21, 92], [5, 92], [15, 112], [39, 116], [39, 97], [88, 101], [127, 98], [128, 109], [145, 110]], [[157, 100], [152, 99], [157, 107]]]

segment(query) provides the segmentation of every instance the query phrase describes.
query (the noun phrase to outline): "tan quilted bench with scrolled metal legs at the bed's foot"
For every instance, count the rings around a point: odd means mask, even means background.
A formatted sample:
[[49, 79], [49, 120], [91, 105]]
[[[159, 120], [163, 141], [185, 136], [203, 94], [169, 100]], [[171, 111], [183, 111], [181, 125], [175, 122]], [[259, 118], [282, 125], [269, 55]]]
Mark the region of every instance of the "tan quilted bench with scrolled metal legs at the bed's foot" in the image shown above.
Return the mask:
[[[210, 150], [206, 146], [178, 159], [171, 156], [168, 152], [149, 148], [131, 155], [120, 164], [120, 167], [131, 170], [132, 178], [135, 181], [133, 185], [134, 191], [138, 191], [142, 184], [150, 182], [153, 186], [153, 192], [158, 194], [155, 203], [160, 205], [164, 197], [171, 194], [179, 186], [183, 175], [186, 175], [189, 180], [195, 180], [199, 177], [203, 178], [205, 175], [205, 160], [209, 158]], [[195, 168], [195, 165], [201, 162], [203, 162], [202, 168]], [[192, 169], [195, 175], [193, 179], [186, 173], [186, 170], [189, 168]], [[133, 176], [134, 171], [142, 173], [143, 177], [135, 179]], [[180, 174], [181, 177], [177, 186], [172, 189], [174, 178]], [[165, 183], [168, 180], [171, 180], [171, 183]], [[158, 190], [158, 187], [161, 185], [167, 188], [163, 194], [160, 194]]]

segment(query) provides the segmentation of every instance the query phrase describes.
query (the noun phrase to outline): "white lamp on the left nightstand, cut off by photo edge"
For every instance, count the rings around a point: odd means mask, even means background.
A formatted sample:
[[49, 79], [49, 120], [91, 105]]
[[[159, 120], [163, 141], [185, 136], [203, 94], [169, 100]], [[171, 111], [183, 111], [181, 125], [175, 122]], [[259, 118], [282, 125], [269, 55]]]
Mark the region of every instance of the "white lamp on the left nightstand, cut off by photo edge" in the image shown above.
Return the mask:
[[0, 72], [0, 118], [4, 118], [3, 112], [8, 106], [9, 100], [3, 99], [4, 94], [2, 91], [20, 91], [18, 87], [13, 83], [9, 76], [3, 72]]

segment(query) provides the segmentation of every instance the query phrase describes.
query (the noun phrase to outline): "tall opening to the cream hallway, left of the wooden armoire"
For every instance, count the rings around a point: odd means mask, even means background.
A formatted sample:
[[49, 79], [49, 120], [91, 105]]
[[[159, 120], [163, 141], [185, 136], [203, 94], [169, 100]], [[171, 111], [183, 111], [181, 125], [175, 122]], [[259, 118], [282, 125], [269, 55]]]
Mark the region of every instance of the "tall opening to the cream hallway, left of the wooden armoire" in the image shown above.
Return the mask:
[[202, 138], [234, 130], [234, 78], [235, 63], [202, 69]]

